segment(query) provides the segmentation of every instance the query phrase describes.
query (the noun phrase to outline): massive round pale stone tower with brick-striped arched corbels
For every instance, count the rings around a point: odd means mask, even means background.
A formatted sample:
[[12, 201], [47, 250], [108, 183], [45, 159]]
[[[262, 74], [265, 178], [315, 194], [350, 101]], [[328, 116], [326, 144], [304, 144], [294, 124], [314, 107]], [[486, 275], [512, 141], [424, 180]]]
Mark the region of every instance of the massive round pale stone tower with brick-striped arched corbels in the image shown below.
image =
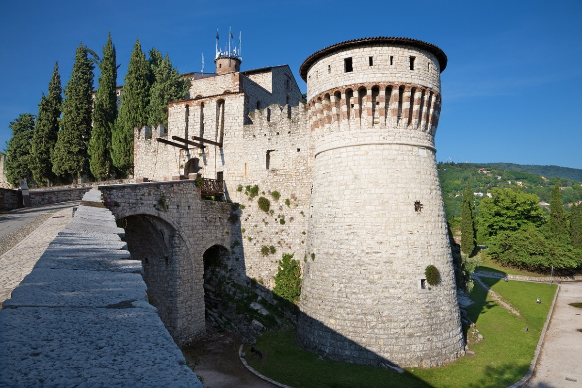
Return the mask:
[[434, 145], [446, 60], [427, 42], [377, 37], [324, 48], [300, 67], [315, 140], [304, 348], [424, 367], [463, 353]]

